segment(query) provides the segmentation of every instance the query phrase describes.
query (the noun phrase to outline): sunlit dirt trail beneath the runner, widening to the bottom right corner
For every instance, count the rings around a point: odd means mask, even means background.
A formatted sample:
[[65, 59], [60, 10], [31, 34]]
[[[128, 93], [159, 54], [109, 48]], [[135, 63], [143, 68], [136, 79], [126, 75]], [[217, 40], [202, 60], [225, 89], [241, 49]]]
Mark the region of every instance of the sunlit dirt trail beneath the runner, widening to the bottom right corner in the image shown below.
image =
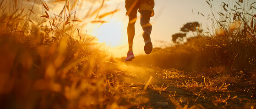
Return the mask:
[[[186, 107], [197, 107], [201, 109], [218, 108], [256, 108], [256, 98], [241, 93], [197, 93], [181, 89], [173, 85], [175, 82], [171, 79], [163, 79], [163, 75], [157, 71], [151, 71], [142, 67], [136, 67], [132, 63], [121, 63], [119, 68], [128, 71], [122, 76], [121, 80], [131, 84], [131, 88], [143, 90], [145, 84], [149, 81], [143, 96], [150, 100], [144, 104], [145, 109], [175, 109]], [[136, 107], [135, 107], [136, 109]]]

